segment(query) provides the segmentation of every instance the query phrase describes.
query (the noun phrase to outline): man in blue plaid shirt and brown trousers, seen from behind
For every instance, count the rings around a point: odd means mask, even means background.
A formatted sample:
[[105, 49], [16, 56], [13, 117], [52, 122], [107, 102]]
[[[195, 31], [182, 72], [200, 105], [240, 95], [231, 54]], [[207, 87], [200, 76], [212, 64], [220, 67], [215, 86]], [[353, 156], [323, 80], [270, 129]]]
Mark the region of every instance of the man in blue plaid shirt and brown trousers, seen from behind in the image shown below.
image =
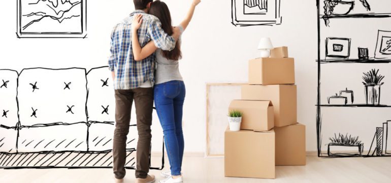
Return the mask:
[[134, 0], [136, 11], [117, 24], [111, 34], [109, 68], [115, 89], [115, 131], [113, 138], [113, 169], [116, 182], [123, 182], [125, 176], [126, 135], [129, 132], [133, 100], [136, 105], [137, 130], [137, 182], [154, 182], [148, 175], [151, 145], [153, 110], [154, 54], [137, 62], [132, 51], [132, 22], [137, 14], [143, 14], [143, 23], [138, 31], [140, 45], [153, 41], [163, 50], [175, 48], [179, 28], [174, 28], [172, 37], [161, 29], [160, 21], [148, 15], [153, 0]]

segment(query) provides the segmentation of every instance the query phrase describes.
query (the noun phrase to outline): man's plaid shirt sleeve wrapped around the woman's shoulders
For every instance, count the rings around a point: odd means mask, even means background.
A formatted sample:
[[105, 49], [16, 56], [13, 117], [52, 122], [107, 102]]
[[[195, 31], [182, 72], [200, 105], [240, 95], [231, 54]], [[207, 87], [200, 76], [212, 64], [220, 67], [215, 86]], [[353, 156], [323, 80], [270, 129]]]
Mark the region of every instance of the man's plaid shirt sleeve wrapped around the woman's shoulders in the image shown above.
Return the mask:
[[167, 51], [171, 51], [175, 48], [175, 39], [163, 31], [161, 22], [158, 19], [152, 19], [151, 23], [148, 25], [147, 33], [151, 36], [151, 39], [157, 48]]

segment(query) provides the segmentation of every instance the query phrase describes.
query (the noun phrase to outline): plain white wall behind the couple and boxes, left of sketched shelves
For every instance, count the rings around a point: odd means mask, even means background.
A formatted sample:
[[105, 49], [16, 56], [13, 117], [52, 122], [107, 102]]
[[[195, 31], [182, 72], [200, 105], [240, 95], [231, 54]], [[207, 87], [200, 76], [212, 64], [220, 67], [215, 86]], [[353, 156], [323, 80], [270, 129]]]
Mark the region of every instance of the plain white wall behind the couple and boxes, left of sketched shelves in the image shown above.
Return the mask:
[[[191, 1], [165, 2], [178, 23]], [[133, 11], [133, 1], [90, 0], [87, 8], [87, 39], [17, 39], [16, 2], [4, 1], [0, 6], [0, 68], [88, 70], [107, 65], [112, 27]], [[288, 46], [290, 56], [296, 59], [298, 120], [307, 126], [307, 150], [316, 150], [316, 1], [282, 0], [281, 15], [278, 26], [235, 27], [231, 1], [203, 0], [199, 5], [183, 35], [180, 62], [187, 89], [183, 115], [186, 151], [203, 152], [205, 148], [205, 83], [246, 82], [247, 60], [258, 57], [260, 37], [271, 37], [274, 46]]]

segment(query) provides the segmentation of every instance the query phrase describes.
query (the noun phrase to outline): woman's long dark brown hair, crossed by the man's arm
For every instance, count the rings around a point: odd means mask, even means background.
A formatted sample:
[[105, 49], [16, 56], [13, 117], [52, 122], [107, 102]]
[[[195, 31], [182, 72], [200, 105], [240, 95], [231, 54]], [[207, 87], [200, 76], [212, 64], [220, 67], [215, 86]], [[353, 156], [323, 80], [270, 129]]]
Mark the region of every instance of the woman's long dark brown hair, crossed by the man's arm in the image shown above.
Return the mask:
[[[149, 9], [149, 14], [156, 16], [160, 20], [163, 31], [165, 31], [168, 35], [173, 34], [171, 13], [166, 3], [161, 1], [154, 1]], [[173, 50], [163, 51], [163, 56], [167, 59], [179, 60], [182, 57], [179, 41], [177, 41]]]

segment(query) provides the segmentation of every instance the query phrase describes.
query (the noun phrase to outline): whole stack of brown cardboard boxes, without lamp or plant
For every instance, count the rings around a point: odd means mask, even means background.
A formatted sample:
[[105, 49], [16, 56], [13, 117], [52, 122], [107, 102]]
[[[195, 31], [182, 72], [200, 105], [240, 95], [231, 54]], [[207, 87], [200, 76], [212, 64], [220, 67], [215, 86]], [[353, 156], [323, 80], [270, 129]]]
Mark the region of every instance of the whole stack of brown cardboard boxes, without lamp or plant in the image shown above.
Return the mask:
[[249, 61], [249, 84], [229, 111], [242, 112], [241, 130], [225, 131], [225, 176], [275, 178], [275, 166], [305, 165], [305, 126], [297, 123], [294, 58], [287, 47]]

